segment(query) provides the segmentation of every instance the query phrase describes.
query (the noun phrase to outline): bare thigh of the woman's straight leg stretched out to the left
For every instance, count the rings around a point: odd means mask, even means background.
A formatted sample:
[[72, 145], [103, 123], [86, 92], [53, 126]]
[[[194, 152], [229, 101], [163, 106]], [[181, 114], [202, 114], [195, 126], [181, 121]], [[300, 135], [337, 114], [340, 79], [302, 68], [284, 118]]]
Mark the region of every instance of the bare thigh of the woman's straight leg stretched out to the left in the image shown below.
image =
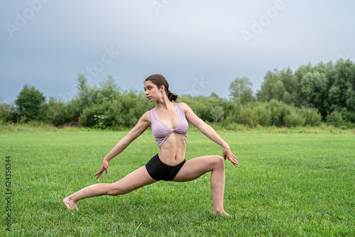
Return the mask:
[[156, 181], [148, 174], [146, 166], [142, 166], [111, 185], [119, 191], [119, 194], [126, 194], [145, 185], [153, 184]]

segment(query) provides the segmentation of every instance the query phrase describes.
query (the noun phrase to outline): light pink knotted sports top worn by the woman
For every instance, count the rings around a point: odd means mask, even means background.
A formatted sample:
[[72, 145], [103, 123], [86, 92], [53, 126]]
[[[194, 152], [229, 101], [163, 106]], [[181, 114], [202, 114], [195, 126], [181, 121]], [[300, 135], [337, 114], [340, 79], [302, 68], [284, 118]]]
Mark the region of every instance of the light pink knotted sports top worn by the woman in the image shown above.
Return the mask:
[[187, 123], [184, 111], [181, 109], [178, 103], [175, 103], [175, 109], [179, 116], [179, 126], [175, 129], [171, 129], [166, 126], [162, 121], [160, 121], [160, 118], [158, 114], [155, 113], [155, 110], [151, 109], [152, 132], [159, 148], [164, 143], [166, 138], [168, 138], [170, 133], [173, 132], [179, 133], [182, 137], [185, 138], [187, 142], [187, 131], [189, 130], [189, 123]]

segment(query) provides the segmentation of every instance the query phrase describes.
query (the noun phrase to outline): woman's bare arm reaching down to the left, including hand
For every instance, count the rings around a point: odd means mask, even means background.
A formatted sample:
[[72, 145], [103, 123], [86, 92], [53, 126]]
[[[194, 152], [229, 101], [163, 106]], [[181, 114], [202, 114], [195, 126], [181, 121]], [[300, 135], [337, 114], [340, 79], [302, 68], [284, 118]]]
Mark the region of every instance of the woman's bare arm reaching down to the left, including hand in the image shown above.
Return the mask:
[[119, 140], [119, 143], [117, 143], [114, 148], [112, 148], [112, 150], [109, 152], [109, 154], [105, 156], [104, 161], [102, 162], [101, 169], [95, 174], [95, 176], [97, 176], [97, 179], [102, 175], [102, 172], [105, 171], [106, 174], [109, 173], [109, 171], [107, 170], [107, 168], [109, 167], [109, 161], [116, 157], [116, 155], [119, 155], [119, 153], [121, 153], [124, 149], [126, 149], [126, 147], [129, 146], [129, 144], [131, 144], [133, 140], [138, 138], [138, 136], [141, 136], [141, 134], [146, 131], [150, 124], [151, 111], [146, 111], [146, 113], [141, 116], [136, 126], [134, 126], [131, 131], [129, 131], [129, 133], [124, 136], [124, 138]]

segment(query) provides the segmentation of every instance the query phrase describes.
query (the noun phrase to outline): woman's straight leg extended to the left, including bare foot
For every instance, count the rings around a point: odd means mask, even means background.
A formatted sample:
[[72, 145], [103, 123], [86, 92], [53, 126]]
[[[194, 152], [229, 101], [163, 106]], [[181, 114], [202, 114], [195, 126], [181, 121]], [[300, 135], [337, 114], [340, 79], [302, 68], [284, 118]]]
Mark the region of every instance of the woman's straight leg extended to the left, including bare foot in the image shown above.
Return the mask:
[[156, 180], [153, 180], [151, 175], [148, 174], [146, 167], [142, 166], [112, 184], [92, 184], [88, 187], [84, 187], [78, 192], [75, 192], [75, 194], [63, 199], [63, 203], [67, 209], [77, 210], [77, 201], [79, 200], [101, 195], [116, 196], [119, 194], [127, 194], [145, 185], [153, 184], [153, 182], [156, 182]]

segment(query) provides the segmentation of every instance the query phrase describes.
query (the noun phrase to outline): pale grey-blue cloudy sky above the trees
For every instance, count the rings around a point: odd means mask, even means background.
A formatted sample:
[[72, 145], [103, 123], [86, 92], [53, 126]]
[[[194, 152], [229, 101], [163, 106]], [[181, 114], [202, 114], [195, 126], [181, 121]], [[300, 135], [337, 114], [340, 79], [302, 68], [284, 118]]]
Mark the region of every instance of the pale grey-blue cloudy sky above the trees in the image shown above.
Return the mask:
[[0, 102], [24, 84], [67, 101], [83, 73], [143, 89], [152, 74], [176, 94], [229, 98], [268, 70], [355, 58], [355, 1], [1, 1]]

